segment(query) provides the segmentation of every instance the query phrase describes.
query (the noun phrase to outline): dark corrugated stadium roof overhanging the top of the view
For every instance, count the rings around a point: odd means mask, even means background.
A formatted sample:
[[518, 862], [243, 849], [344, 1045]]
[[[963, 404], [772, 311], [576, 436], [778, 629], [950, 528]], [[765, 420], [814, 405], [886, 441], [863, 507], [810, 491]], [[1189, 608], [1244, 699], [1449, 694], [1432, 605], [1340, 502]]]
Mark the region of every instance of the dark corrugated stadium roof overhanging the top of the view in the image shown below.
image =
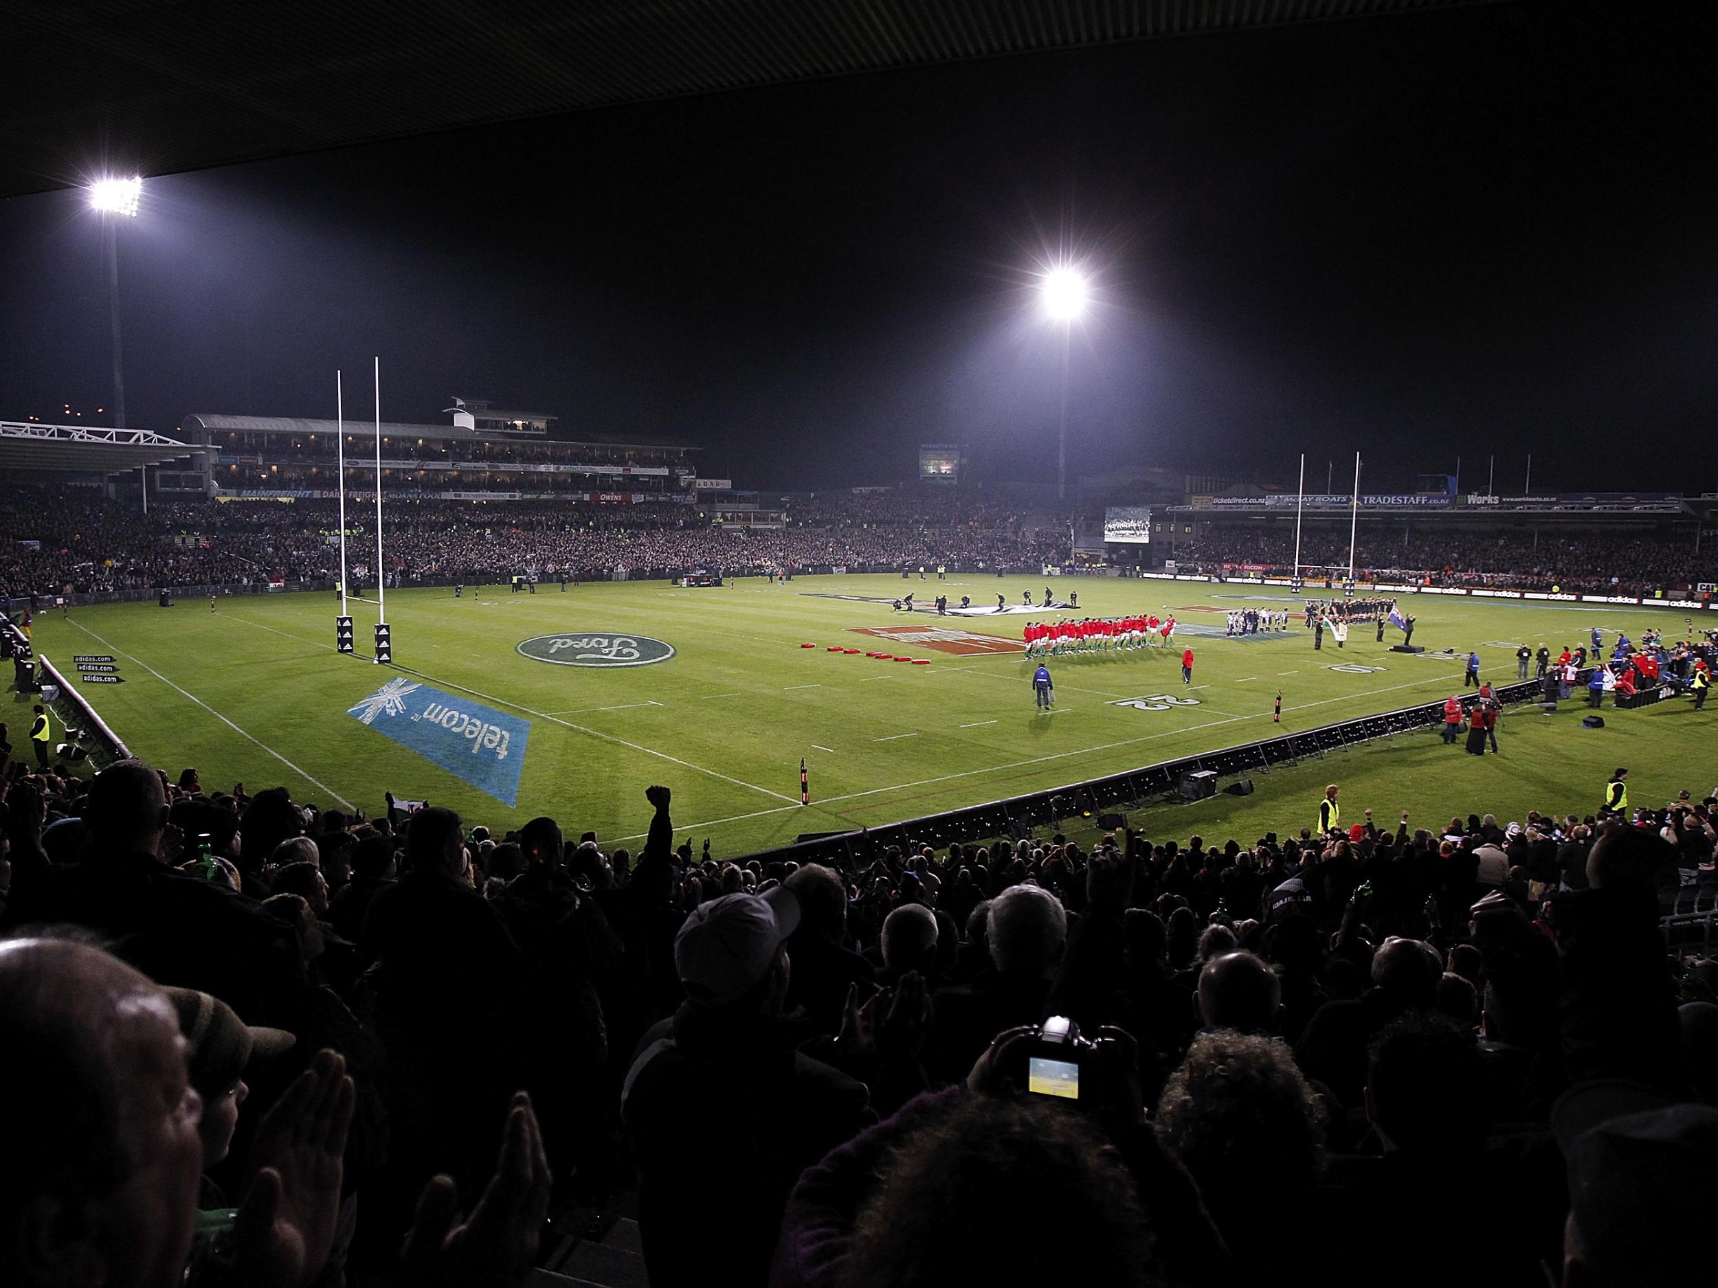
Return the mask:
[[1507, 0], [9, 5], [0, 196], [725, 89]]

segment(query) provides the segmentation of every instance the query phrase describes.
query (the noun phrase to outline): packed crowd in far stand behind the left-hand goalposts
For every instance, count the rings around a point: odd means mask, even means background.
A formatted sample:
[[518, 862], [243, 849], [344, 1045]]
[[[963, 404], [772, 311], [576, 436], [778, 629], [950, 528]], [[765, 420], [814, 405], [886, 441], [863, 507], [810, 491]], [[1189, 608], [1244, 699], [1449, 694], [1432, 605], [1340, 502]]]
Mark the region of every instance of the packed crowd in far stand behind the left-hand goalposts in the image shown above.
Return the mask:
[[[840, 495], [850, 496], [850, 495]], [[1067, 556], [1057, 529], [1024, 531], [979, 505], [967, 512], [935, 491], [921, 501], [873, 500], [850, 519], [845, 503], [807, 498], [777, 527], [723, 526], [689, 505], [579, 501], [450, 501], [388, 498], [381, 536], [388, 580], [502, 582], [543, 579], [955, 565], [984, 572], [1038, 568]], [[964, 517], [960, 517], [964, 515]], [[974, 519], [995, 522], [984, 526]], [[184, 586], [332, 582], [340, 574], [335, 500], [175, 501], [127, 512], [94, 489], [17, 488], [0, 501], [0, 594], [151, 591]], [[347, 505], [354, 580], [375, 584], [375, 526]], [[359, 572], [362, 568], [362, 572]]]

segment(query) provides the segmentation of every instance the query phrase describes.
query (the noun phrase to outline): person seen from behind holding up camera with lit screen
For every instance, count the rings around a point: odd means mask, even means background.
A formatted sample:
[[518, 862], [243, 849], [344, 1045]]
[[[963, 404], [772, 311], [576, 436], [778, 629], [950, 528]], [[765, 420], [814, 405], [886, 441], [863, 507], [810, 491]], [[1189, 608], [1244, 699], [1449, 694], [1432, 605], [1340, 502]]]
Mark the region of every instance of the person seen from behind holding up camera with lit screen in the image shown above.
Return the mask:
[[[1232, 1259], [1144, 1116], [1132, 1039], [1067, 1017], [1007, 1029], [953, 1087], [809, 1168], [775, 1288], [1230, 1283]], [[1017, 1197], [1053, 1238], [1020, 1238]]]

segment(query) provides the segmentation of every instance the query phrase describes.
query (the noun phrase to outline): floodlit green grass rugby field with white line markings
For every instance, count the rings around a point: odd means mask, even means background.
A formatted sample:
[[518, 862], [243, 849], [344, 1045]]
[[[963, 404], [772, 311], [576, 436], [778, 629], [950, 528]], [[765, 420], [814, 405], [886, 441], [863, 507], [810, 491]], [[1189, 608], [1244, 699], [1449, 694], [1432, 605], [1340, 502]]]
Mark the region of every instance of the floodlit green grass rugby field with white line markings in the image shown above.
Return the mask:
[[[1017, 641], [1027, 617], [938, 620], [893, 613], [888, 603], [832, 594], [921, 598], [938, 591], [993, 605], [1034, 594], [1043, 579], [952, 575], [911, 586], [899, 577], [801, 577], [785, 587], [740, 580], [720, 589], [661, 582], [539, 587], [534, 596], [488, 587], [454, 599], [450, 589], [388, 596], [395, 668], [333, 651], [332, 594], [232, 596], [216, 613], [187, 599], [77, 608], [38, 618], [38, 653], [70, 673], [74, 654], [112, 654], [125, 683], [79, 685], [101, 716], [144, 759], [172, 773], [196, 766], [204, 787], [249, 790], [285, 785], [297, 800], [381, 809], [383, 790], [452, 805], [467, 823], [505, 828], [553, 814], [574, 835], [637, 838], [648, 821], [643, 790], [673, 787], [673, 816], [694, 841], [740, 854], [821, 833], [916, 817], [959, 805], [1270, 737], [1271, 704], [1283, 694], [1282, 730], [1304, 730], [1373, 711], [1443, 697], [1460, 685], [1459, 663], [1388, 653], [1356, 630], [1345, 649], [1311, 634], [1227, 641], [1177, 635], [1196, 656], [1194, 689], [1180, 683], [1180, 647], [1051, 659], [1057, 709], [1038, 714], [1019, 654], [948, 656], [856, 634], [902, 625], [995, 634]], [[1247, 603], [1292, 608], [1285, 589], [1079, 579], [1082, 613], [1170, 608], [1184, 625], [1223, 627]], [[1252, 594], [1249, 591], [1261, 591]], [[352, 606], [359, 651], [368, 653], [371, 605]], [[1682, 613], [1665, 610], [1546, 606], [1426, 598], [1416, 603], [1414, 641], [1428, 649], [1477, 647], [1484, 673], [1514, 680], [1512, 641], [1553, 651], [1618, 629], [1648, 625], [1680, 634]], [[586, 668], [545, 665], [515, 651], [534, 635], [646, 635], [673, 646], [658, 665]], [[1364, 634], [1364, 637], [1362, 637]], [[802, 642], [818, 647], [802, 649]], [[861, 654], [828, 653], [840, 644]], [[929, 658], [909, 666], [862, 651]], [[1330, 670], [1331, 666], [1352, 670]], [[467, 785], [417, 752], [364, 726], [349, 708], [392, 675], [431, 685], [529, 721], [514, 807]], [[1170, 694], [1194, 706], [1137, 709], [1127, 699]], [[1611, 713], [1605, 730], [1579, 726], [1581, 697], [1557, 714], [1512, 709], [1502, 756], [1445, 747], [1436, 732], [1404, 735], [1256, 778], [1247, 799], [1218, 797], [1136, 816], [1165, 836], [1251, 840], [1311, 821], [1325, 781], [1343, 783], [1345, 819], [1374, 805], [1393, 821], [1527, 807], [1587, 812], [1606, 775], [1627, 764], [1636, 804], [1663, 804], [1678, 788], [1713, 787], [1706, 721], [1689, 701]], [[1161, 706], [1161, 704], [1151, 704]], [[17, 708], [14, 708], [17, 709]], [[22, 728], [12, 720], [14, 730]], [[14, 735], [15, 738], [15, 735]], [[811, 773], [813, 804], [799, 804], [799, 761]]]

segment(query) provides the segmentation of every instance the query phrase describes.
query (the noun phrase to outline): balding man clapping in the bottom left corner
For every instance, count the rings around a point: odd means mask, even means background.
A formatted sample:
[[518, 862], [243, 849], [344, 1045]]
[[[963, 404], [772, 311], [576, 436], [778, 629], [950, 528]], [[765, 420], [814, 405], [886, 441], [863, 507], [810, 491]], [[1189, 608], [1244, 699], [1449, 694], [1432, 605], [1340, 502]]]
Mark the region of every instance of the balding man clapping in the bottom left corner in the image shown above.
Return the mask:
[[[0, 1274], [17, 1285], [182, 1283], [204, 1106], [167, 994], [96, 948], [0, 943], [0, 1039], [31, 1053], [27, 1070], [0, 1061], [0, 1094], [33, 1106], [12, 1123], [0, 1164]], [[352, 1082], [325, 1053], [253, 1149], [237, 1281], [301, 1285], [321, 1271], [350, 1115]]]

